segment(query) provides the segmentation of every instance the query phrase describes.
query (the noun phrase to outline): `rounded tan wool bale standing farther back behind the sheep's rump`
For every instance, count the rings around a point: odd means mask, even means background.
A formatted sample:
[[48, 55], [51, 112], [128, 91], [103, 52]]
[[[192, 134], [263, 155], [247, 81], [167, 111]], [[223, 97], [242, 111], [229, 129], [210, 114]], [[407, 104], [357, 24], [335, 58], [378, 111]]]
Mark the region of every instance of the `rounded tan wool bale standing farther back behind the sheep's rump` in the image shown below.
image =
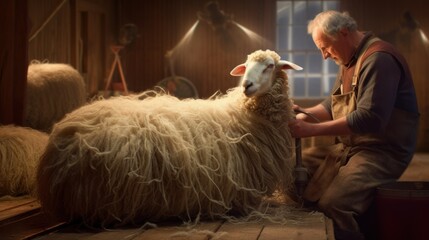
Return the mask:
[[70, 65], [34, 61], [28, 66], [25, 126], [50, 132], [54, 123], [85, 102], [84, 80]]

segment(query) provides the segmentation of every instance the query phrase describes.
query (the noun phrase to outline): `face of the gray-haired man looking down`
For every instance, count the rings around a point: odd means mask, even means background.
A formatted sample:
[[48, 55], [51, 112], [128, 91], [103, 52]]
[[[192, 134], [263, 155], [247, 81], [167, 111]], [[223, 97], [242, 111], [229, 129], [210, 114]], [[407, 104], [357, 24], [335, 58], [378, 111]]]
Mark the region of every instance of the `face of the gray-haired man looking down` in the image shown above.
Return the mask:
[[324, 59], [331, 58], [337, 65], [348, 63], [347, 41], [343, 32], [339, 32], [337, 38], [333, 39], [325, 35], [320, 29], [315, 29], [312, 37]]

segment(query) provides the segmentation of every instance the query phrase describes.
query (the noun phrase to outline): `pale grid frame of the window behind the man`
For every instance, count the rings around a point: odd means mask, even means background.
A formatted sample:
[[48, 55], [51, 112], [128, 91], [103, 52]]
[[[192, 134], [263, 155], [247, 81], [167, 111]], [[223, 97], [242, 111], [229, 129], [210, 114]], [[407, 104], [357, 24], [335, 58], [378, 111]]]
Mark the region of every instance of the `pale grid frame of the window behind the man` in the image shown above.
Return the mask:
[[[289, 4], [286, 6], [286, 10], [279, 8], [281, 7], [281, 3], [286, 3], [283, 5]], [[302, 8], [302, 5], [304, 4], [304, 14], [305, 16], [298, 16], [296, 14], [296, 9], [298, 7]], [[315, 15], [320, 12], [315, 12], [313, 14], [309, 14], [310, 11], [309, 6], [316, 6], [320, 4], [320, 11], [333, 9], [333, 10], [339, 10], [340, 1], [339, 0], [277, 0], [276, 2], [276, 51], [277, 53], [283, 58], [288, 61], [294, 62], [298, 65], [301, 65], [304, 69], [302, 71], [290, 71], [288, 72], [289, 75], [289, 86], [290, 86], [290, 96], [296, 99], [322, 99], [328, 96], [331, 92], [331, 88], [335, 82], [335, 79], [337, 77], [338, 69], [339, 67], [335, 64], [334, 61], [331, 59], [324, 60], [322, 54], [320, 53], [319, 49], [314, 45], [311, 36], [307, 34], [307, 23], [309, 20], [313, 19]], [[298, 6], [300, 5], [300, 6]], [[281, 24], [279, 23], [279, 12], [280, 11], [288, 11], [286, 14], [287, 24]], [[297, 18], [297, 19], [294, 19]], [[304, 23], [303, 23], [304, 19]], [[299, 22], [298, 22], [299, 21]], [[305, 39], [304, 41], [300, 42], [301, 46], [304, 46], [304, 49], [298, 49], [294, 47], [294, 37], [295, 34], [293, 31], [296, 31], [296, 29], [301, 28], [305, 29], [305, 35], [308, 36], [308, 39]], [[287, 39], [283, 39], [282, 36], [284, 34], [280, 34], [280, 31], [284, 31], [286, 29], [287, 33]], [[302, 35], [302, 32], [299, 33]], [[282, 39], [280, 39], [282, 38]], [[281, 43], [280, 41], [285, 41], [286, 44]], [[308, 41], [311, 41], [311, 46], [308, 48]], [[286, 45], [286, 48], [282, 48], [281, 45]], [[307, 46], [307, 48], [305, 48]], [[318, 55], [320, 57], [321, 61], [321, 71], [320, 72], [311, 72], [310, 71], [310, 56]], [[299, 56], [304, 57], [304, 62], [300, 62]], [[313, 59], [314, 60], [314, 59]], [[295, 62], [298, 61], [298, 62]], [[320, 79], [320, 82], [318, 82], [318, 85], [320, 85], [319, 91], [314, 91], [314, 89], [311, 89], [310, 84], [312, 82], [314, 83], [314, 79]], [[313, 81], [311, 81], [313, 79]], [[301, 81], [301, 82], [300, 82]], [[303, 81], [303, 82], [302, 82]], [[297, 89], [299, 88], [299, 85], [302, 86], [303, 89], [301, 89], [301, 93], [298, 94]], [[302, 91], [303, 90], [303, 91]], [[318, 92], [318, 94], [311, 93], [312, 92]]]

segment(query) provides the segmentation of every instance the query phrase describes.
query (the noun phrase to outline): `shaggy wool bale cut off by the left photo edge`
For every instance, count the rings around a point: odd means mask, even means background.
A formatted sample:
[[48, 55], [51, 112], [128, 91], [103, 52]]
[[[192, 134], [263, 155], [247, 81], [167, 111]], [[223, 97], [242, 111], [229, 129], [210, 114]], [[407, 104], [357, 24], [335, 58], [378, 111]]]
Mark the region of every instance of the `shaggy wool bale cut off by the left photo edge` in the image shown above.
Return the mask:
[[47, 143], [44, 132], [0, 126], [0, 196], [35, 194], [37, 165]]

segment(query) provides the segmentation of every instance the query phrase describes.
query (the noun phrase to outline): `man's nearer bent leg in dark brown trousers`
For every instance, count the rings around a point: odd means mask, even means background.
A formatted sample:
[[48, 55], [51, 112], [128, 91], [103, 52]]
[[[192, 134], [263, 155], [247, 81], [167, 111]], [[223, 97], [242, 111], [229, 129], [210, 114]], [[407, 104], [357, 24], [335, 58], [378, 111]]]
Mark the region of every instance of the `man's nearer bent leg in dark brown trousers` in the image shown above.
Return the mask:
[[382, 151], [359, 151], [340, 168], [318, 206], [339, 229], [358, 233], [355, 217], [368, 209], [378, 186], [395, 181], [405, 168]]

